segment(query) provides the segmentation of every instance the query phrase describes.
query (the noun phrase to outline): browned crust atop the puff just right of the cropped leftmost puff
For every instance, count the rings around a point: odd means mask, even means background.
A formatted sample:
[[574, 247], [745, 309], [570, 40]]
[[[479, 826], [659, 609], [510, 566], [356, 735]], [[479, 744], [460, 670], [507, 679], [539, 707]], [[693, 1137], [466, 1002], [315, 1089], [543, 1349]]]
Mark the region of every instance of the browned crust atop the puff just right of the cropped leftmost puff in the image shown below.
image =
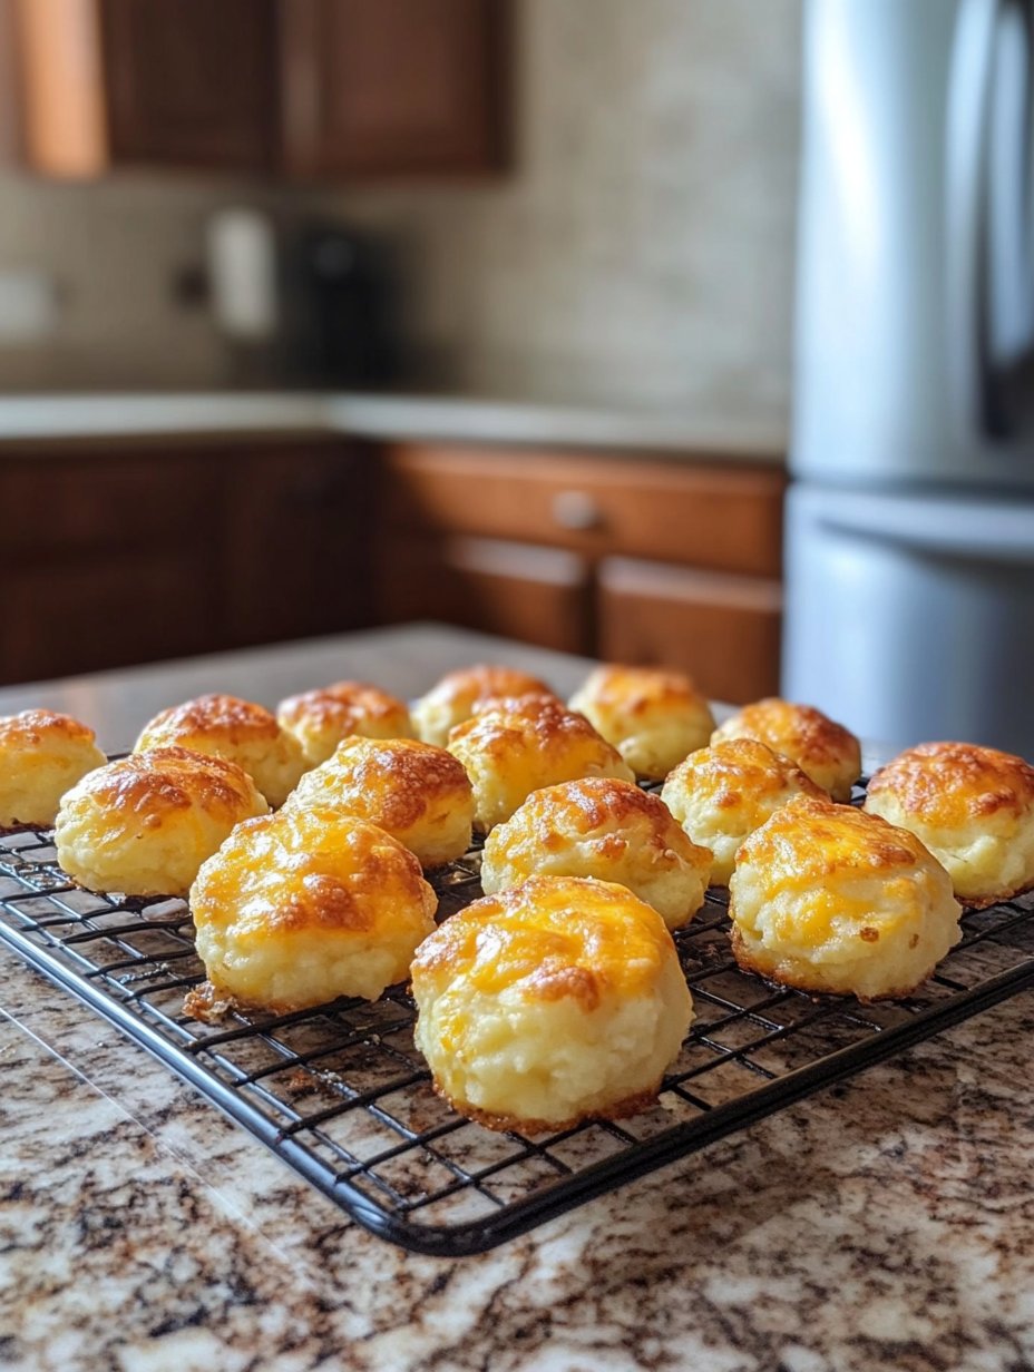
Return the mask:
[[192, 805], [239, 816], [243, 807], [253, 804], [255, 788], [236, 763], [170, 745], [129, 753], [99, 767], [84, 777], [77, 793], [93, 797], [104, 808], [136, 812], [146, 826], [154, 827], [162, 823], [163, 814]]

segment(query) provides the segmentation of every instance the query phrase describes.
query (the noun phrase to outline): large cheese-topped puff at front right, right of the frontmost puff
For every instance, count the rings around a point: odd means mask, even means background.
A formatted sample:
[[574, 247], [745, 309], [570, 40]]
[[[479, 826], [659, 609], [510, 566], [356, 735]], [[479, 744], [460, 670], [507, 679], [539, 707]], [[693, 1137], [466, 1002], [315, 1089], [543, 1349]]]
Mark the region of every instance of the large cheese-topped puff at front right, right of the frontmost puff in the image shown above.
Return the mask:
[[916, 836], [828, 800], [757, 829], [729, 896], [739, 965], [802, 991], [906, 996], [961, 937], [952, 881]]

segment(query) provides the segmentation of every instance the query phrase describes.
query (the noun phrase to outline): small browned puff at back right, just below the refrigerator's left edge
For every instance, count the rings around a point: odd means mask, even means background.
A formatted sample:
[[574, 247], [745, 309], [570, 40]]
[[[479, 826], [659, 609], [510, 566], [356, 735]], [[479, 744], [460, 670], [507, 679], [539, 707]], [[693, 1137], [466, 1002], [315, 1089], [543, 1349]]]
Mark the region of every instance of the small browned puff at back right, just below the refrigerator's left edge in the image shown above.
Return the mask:
[[794, 705], [776, 697], [758, 700], [711, 734], [713, 744], [725, 738], [757, 738], [768, 744], [795, 761], [834, 800], [849, 801], [861, 775], [861, 744], [814, 705]]

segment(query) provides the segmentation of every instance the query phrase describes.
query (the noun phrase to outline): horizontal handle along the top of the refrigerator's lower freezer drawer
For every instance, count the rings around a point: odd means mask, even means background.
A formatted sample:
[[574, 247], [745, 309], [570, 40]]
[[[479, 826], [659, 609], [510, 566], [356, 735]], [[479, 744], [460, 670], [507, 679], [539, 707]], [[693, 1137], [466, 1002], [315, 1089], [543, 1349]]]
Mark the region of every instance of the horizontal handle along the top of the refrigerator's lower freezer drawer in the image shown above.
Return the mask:
[[1022, 504], [987, 506], [851, 495], [835, 509], [813, 506], [813, 519], [839, 536], [965, 561], [1034, 567], [1034, 509]]

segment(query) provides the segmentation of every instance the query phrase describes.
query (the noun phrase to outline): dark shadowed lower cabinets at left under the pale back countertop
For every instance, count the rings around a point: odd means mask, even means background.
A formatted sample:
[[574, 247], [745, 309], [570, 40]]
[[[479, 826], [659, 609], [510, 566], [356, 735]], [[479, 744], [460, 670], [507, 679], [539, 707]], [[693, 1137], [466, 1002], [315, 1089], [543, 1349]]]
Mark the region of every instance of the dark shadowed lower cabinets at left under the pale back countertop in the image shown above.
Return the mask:
[[0, 457], [0, 683], [369, 623], [371, 473], [316, 439]]

